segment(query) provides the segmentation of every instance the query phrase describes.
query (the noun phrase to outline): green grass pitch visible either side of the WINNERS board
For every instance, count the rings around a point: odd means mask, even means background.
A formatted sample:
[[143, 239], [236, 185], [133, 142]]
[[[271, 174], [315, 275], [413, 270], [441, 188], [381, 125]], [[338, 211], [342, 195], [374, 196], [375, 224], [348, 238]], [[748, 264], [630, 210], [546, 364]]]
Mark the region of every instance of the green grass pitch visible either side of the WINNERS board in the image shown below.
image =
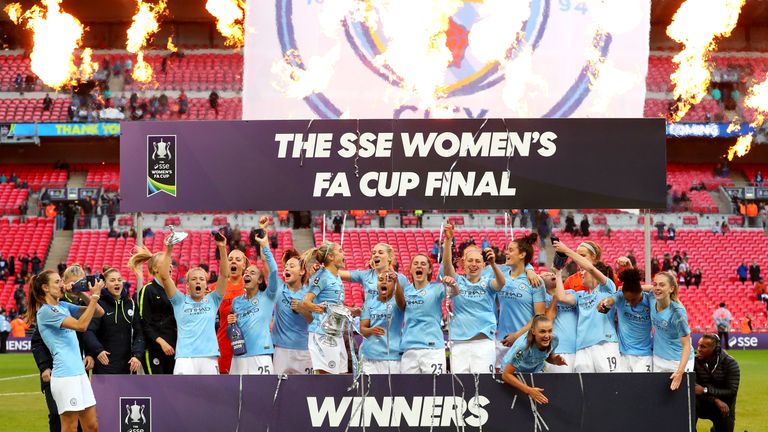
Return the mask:
[[[736, 432], [765, 430], [768, 417], [768, 351], [732, 351], [741, 365], [741, 388], [736, 408]], [[0, 430], [45, 431], [48, 411], [40, 393], [37, 368], [30, 354], [0, 355]], [[699, 421], [698, 432], [711, 423]]]

